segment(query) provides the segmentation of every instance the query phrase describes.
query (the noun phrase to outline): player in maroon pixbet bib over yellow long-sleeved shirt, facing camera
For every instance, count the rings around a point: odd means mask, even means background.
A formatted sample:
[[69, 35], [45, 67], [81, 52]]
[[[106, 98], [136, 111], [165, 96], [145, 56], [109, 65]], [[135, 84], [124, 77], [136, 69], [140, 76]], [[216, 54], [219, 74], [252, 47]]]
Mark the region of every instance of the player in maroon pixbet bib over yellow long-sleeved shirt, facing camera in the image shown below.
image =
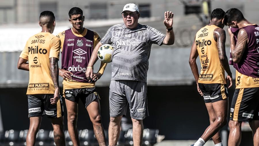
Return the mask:
[[91, 81], [85, 76], [87, 64], [100, 37], [96, 32], [83, 27], [85, 17], [80, 8], [71, 8], [68, 16], [72, 28], [57, 35], [61, 40], [62, 68], [59, 69], [59, 75], [64, 78], [63, 92], [68, 115], [68, 132], [73, 145], [79, 145], [77, 114], [78, 102], [81, 99], [93, 123], [99, 145], [106, 146], [100, 115], [100, 98], [94, 83], [102, 76], [106, 63], [101, 63], [98, 73], [94, 74]]

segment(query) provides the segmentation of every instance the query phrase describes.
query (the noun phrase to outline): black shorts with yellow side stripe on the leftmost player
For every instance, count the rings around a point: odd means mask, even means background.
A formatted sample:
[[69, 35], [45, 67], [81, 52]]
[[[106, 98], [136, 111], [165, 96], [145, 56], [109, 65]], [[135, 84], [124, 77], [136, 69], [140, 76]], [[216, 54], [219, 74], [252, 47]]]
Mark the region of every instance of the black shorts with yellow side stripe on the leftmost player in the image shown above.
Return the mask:
[[58, 118], [64, 115], [62, 97], [57, 104], [51, 104], [50, 99], [54, 94], [32, 94], [28, 95], [28, 117], [47, 115], [48, 118]]

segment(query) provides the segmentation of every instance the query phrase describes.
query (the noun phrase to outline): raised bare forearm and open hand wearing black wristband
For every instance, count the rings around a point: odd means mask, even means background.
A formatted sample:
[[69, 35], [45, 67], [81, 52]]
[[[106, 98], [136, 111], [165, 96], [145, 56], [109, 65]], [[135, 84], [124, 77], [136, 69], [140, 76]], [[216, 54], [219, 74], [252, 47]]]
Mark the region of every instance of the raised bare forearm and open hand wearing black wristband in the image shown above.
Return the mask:
[[[167, 29], [171, 29], [173, 27], [173, 17], [174, 13], [172, 12], [165, 12], [165, 20], [164, 25]], [[166, 35], [163, 40], [163, 44], [165, 45], [172, 45], [174, 44], [174, 30], [166, 30]]]

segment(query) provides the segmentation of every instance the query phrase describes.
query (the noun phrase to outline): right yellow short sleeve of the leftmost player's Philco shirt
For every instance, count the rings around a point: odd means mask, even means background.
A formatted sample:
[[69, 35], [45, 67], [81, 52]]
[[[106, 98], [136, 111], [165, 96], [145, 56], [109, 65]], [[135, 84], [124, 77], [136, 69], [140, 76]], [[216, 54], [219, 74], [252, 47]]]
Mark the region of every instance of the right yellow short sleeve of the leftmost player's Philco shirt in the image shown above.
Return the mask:
[[58, 37], [53, 37], [50, 41], [50, 52], [49, 58], [55, 57], [59, 59], [60, 53], [60, 39]]

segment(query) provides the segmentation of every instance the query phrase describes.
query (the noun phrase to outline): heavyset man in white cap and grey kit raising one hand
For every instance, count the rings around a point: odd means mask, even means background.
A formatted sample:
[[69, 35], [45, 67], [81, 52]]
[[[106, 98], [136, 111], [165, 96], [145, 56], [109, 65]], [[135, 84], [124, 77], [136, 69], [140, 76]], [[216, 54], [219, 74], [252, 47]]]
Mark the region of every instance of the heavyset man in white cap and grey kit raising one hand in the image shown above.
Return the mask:
[[110, 125], [109, 145], [117, 145], [120, 133], [120, 121], [126, 115], [129, 103], [133, 123], [134, 146], [142, 145], [143, 123], [148, 116], [146, 76], [148, 58], [152, 44], [174, 44], [173, 13], [165, 12], [164, 25], [166, 35], [158, 30], [138, 24], [138, 7], [133, 3], [124, 6], [121, 12], [124, 24], [114, 25], [96, 45], [87, 67], [86, 76], [94, 78], [93, 65], [97, 60], [97, 51], [102, 44], [114, 47], [112, 77], [110, 84]]

